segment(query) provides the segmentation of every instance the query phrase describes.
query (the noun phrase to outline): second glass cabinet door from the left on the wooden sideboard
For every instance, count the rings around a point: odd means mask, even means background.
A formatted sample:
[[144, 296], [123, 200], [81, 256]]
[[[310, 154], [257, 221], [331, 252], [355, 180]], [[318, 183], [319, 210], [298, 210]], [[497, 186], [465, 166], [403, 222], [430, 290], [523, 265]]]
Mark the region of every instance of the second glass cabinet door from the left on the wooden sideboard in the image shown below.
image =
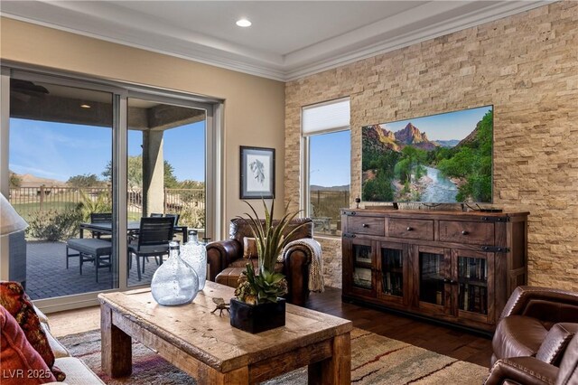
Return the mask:
[[379, 294], [385, 296], [404, 296], [404, 248], [402, 245], [380, 245], [380, 284]]

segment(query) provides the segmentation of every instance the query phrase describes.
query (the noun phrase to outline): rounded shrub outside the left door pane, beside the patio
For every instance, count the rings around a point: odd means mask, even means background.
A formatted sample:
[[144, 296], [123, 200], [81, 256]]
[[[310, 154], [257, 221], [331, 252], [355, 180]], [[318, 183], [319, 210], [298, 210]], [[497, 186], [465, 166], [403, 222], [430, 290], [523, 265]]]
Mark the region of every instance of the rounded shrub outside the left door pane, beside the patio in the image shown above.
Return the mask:
[[26, 233], [35, 238], [51, 242], [69, 239], [79, 230], [82, 214], [68, 208], [62, 211], [35, 211], [28, 221]]

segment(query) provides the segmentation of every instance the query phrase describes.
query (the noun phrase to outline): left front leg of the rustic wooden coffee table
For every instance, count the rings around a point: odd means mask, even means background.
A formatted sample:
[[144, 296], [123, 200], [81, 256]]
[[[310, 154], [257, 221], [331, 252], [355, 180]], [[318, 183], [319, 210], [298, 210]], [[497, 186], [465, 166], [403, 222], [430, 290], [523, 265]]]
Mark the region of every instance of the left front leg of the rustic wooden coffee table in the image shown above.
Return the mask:
[[100, 304], [102, 370], [110, 377], [130, 376], [133, 371], [132, 339], [112, 323], [113, 310]]

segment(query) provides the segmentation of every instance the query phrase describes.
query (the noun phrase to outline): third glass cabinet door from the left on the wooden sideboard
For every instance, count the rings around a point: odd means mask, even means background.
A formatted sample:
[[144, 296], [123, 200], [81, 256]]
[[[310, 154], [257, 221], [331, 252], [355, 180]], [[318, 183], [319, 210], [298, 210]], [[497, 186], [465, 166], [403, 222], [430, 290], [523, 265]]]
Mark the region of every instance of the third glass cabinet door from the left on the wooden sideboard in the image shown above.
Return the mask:
[[419, 252], [419, 300], [433, 305], [445, 305], [445, 275], [443, 253]]

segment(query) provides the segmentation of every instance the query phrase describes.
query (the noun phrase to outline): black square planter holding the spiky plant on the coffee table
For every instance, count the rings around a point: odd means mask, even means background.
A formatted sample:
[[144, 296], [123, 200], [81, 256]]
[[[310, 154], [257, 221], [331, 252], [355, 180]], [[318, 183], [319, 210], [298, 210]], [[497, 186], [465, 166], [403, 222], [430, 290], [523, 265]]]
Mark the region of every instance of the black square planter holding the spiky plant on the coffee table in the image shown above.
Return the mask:
[[248, 333], [261, 333], [285, 324], [285, 300], [277, 298], [276, 304], [249, 305], [231, 298], [231, 326]]

